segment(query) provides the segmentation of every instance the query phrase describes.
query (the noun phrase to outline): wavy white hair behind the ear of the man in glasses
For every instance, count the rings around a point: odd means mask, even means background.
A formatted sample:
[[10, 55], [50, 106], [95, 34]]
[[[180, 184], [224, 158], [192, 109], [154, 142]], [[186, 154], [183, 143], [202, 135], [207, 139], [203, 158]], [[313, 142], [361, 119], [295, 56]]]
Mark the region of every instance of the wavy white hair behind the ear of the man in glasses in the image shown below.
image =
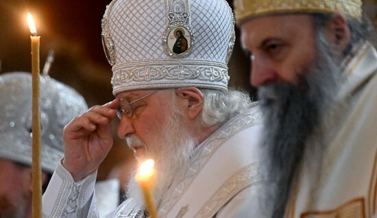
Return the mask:
[[250, 96], [241, 90], [227, 91], [200, 89], [204, 95], [204, 106], [199, 117], [204, 126], [215, 125], [228, 121], [237, 114], [250, 108]]

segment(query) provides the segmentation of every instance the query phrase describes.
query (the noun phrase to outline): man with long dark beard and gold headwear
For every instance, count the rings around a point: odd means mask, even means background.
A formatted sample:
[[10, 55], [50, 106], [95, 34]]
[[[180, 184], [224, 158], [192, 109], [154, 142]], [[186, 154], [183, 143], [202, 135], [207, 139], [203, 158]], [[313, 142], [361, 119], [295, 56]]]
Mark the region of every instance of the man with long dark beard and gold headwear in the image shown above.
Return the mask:
[[376, 34], [362, 1], [234, 3], [264, 117], [263, 217], [376, 217]]

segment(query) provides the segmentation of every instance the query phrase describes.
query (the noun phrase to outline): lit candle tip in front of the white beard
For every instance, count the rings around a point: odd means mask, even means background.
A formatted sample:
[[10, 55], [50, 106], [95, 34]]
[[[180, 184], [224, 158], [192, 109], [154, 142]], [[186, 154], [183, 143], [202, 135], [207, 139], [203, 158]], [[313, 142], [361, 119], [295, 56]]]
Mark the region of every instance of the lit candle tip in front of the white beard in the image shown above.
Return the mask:
[[157, 211], [154, 207], [154, 199], [152, 189], [154, 188], [154, 160], [145, 160], [141, 166], [138, 168], [136, 173], [136, 182], [141, 186], [141, 191], [143, 191], [145, 207], [149, 213], [149, 217], [157, 218]]

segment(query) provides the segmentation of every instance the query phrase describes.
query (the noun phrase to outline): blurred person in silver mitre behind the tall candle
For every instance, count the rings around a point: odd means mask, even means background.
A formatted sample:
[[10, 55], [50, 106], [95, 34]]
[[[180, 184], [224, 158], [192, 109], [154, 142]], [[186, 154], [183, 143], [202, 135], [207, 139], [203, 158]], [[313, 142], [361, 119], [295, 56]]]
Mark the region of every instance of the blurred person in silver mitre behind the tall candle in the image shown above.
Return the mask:
[[[51, 77], [40, 77], [42, 186], [63, 156], [62, 131], [86, 111], [84, 98]], [[25, 218], [32, 212], [32, 76], [0, 75], [0, 217]]]

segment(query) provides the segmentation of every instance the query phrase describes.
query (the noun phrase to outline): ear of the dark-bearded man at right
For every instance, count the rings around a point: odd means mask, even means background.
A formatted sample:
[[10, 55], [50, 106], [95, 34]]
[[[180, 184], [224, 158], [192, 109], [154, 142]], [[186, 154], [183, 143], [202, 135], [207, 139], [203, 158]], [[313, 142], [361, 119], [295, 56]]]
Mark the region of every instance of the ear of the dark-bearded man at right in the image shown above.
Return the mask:
[[327, 36], [330, 43], [337, 45], [339, 55], [343, 53], [351, 40], [351, 32], [348, 21], [342, 14], [335, 13], [326, 24]]

